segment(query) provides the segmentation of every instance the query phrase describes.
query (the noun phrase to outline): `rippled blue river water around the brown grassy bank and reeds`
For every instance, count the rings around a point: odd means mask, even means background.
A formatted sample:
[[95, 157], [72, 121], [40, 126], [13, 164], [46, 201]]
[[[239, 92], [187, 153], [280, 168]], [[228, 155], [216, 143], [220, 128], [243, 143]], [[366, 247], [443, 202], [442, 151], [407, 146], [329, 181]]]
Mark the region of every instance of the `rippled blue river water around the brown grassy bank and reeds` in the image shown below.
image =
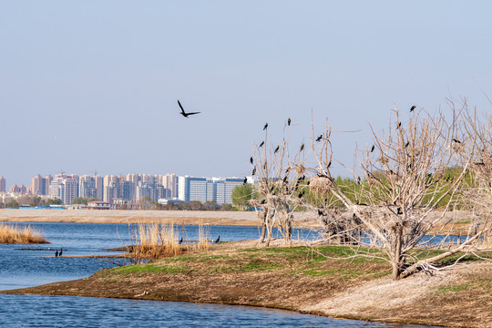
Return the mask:
[[[111, 264], [95, 259], [55, 258], [64, 255], [104, 255], [104, 249], [129, 244], [127, 224], [17, 223], [41, 231], [50, 244], [0, 244], [0, 290], [36, 286], [87, 277]], [[179, 227], [179, 230], [181, 227]], [[189, 240], [197, 239], [198, 227], [186, 226]], [[308, 231], [294, 231], [307, 236]], [[210, 226], [210, 239], [255, 239], [255, 227]], [[22, 250], [22, 249], [37, 249]], [[99, 299], [70, 296], [0, 294], [1, 327], [418, 327], [386, 323], [335, 320], [279, 310], [195, 304]]]

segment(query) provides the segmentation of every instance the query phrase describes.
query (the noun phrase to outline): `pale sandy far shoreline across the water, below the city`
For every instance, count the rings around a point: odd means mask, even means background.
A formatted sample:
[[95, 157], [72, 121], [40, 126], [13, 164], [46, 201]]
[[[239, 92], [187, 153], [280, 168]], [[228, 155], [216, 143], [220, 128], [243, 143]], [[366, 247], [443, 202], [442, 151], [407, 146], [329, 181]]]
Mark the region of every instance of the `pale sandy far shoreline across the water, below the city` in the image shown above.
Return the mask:
[[[313, 226], [313, 213], [296, 213], [297, 226]], [[174, 224], [209, 224], [259, 226], [254, 211], [202, 210], [0, 210], [0, 221], [14, 222], [79, 222], [134, 223], [159, 222]]]

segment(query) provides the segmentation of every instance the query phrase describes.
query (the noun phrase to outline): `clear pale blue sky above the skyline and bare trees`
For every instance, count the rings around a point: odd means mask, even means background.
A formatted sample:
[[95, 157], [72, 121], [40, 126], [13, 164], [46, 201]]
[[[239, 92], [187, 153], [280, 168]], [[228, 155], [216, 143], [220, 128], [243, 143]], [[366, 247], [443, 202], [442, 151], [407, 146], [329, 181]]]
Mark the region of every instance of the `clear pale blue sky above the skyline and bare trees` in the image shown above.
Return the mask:
[[[491, 111], [487, 1], [0, 1], [0, 176], [245, 176], [325, 118], [352, 166], [393, 101]], [[177, 99], [198, 116], [182, 118]], [[406, 115], [406, 114], [405, 114]], [[298, 146], [295, 146], [297, 148]], [[350, 176], [340, 165], [335, 174]]]

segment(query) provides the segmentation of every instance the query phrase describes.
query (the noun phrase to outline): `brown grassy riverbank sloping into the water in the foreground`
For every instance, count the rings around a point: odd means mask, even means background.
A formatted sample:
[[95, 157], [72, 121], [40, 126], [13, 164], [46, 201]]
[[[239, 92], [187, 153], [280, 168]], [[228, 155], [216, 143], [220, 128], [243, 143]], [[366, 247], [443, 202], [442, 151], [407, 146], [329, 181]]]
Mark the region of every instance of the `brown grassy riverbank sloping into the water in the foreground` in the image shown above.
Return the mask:
[[393, 282], [385, 261], [333, 259], [350, 255], [343, 246], [258, 248], [257, 241], [214, 246], [5, 293], [211, 302], [392, 323], [492, 326], [490, 262], [469, 261]]

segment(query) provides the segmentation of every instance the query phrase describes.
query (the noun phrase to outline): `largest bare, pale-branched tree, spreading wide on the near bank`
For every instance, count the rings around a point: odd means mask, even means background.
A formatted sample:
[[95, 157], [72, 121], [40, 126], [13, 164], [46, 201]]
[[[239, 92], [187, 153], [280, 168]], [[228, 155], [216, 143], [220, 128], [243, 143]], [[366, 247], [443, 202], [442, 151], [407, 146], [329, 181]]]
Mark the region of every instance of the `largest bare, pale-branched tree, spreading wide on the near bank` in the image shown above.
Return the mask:
[[[362, 152], [360, 175], [355, 178], [354, 174], [351, 187], [337, 184], [330, 172], [332, 127], [326, 127], [320, 140], [313, 131], [313, 161], [297, 164], [313, 163], [306, 169], [312, 176], [311, 192], [317, 200], [323, 200], [315, 202], [314, 208], [325, 229], [332, 227], [328, 233], [331, 241], [338, 236], [339, 242], [358, 244], [354, 247], [355, 256], [380, 256], [389, 261], [394, 280], [422, 270], [438, 270], [433, 263], [460, 251], [473, 250], [490, 230], [489, 225], [487, 228], [481, 223], [465, 241], [448, 244], [447, 250], [437, 255], [424, 256], [425, 248], [446, 241], [443, 235], [449, 237], [452, 230], [446, 227], [453, 226], [456, 219], [449, 219], [446, 213], [454, 213], [458, 200], [464, 200], [463, 185], [469, 181], [470, 170], [475, 172], [474, 177], [487, 176], [486, 171], [477, 171], [487, 169], [487, 154], [482, 151], [474, 155], [477, 131], [468, 127], [477, 130], [477, 121], [465, 124], [466, 111], [453, 109], [452, 118], [447, 120], [442, 112], [432, 116], [422, 109], [414, 109], [403, 119], [395, 108], [396, 124], [390, 121], [384, 133], [376, 133], [372, 128], [374, 143]], [[468, 121], [470, 118], [468, 115]], [[480, 130], [490, 131], [490, 125]], [[481, 132], [481, 136], [482, 144], [487, 141], [490, 148], [490, 135]], [[488, 190], [489, 179], [485, 184]], [[477, 193], [477, 188], [469, 190]], [[490, 192], [482, 194], [488, 197]], [[333, 212], [334, 202], [344, 207], [344, 215]], [[481, 199], [479, 202], [486, 203]], [[481, 209], [483, 222], [484, 206]], [[366, 247], [360, 247], [361, 231]], [[378, 255], [381, 251], [384, 254]]]

